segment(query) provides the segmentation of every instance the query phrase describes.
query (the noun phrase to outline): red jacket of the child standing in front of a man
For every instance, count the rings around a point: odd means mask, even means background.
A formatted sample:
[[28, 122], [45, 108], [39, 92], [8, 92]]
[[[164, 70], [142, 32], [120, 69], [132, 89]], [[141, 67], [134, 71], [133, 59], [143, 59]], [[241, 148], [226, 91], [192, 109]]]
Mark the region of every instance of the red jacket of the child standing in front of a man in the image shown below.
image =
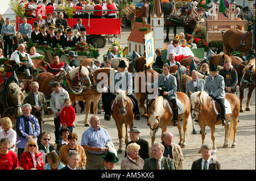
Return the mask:
[[67, 127], [72, 127], [76, 119], [76, 111], [72, 106], [65, 106], [60, 113], [60, 123], [63, 125], [67, 124]]

